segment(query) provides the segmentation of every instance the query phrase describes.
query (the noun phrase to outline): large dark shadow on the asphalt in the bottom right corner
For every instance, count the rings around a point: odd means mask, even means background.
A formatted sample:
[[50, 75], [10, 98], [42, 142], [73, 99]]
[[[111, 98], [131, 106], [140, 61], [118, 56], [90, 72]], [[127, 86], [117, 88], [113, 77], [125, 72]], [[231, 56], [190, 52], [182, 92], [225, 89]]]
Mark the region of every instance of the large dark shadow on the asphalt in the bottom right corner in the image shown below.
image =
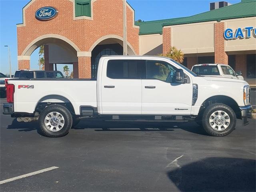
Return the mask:
[[255, 191], [256, 161], [206, 158], [167, 172], [180, 191]]

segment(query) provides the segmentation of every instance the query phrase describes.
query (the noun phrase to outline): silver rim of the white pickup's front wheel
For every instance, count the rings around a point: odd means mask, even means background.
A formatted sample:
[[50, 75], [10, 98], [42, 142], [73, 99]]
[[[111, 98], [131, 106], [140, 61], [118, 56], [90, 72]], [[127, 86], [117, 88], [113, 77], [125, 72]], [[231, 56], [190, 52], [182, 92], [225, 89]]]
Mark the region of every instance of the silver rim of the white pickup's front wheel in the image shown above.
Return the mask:
[[209, 123], [214, 130], [223, 131], [230, 125], [230, 117], [226, 112], [218, 110], [210, 115]]

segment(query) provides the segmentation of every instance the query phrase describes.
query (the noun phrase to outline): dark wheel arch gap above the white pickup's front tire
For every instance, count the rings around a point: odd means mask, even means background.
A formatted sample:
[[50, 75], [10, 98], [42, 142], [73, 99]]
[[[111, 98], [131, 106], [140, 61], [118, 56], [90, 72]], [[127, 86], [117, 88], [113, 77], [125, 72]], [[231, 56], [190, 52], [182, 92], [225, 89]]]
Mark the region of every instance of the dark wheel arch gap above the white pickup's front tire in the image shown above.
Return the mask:
[[230, 106], [232, 108], [232, 110], [234, 110], [234, 112], [236, 113], [236, 118], [242, 119], [241, 110], [240, 110], [237, 102], [233, 98], [231, 98], [229, 96], [225, 96], [225, 95], [216, 95], [216, 96], [211, 96], [211, 97], [207, 98], [202, 103], [198, 116], [202, 115], [206, 106], [213, 104], [213, 103], [222, 103], [222, 104], [226, 104], [227, 106]]

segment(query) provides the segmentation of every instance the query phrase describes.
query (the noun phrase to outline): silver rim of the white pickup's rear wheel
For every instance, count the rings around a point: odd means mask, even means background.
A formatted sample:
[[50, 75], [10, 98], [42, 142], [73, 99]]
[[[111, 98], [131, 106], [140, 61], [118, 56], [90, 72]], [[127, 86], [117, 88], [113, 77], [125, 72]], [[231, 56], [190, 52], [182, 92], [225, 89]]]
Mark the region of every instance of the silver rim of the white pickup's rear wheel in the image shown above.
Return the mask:
[[60, 131], [65, 124], [65, 120], [62, 114], [59, 112], [50, 112], [44, 118], [44, 125], [52, 132]]

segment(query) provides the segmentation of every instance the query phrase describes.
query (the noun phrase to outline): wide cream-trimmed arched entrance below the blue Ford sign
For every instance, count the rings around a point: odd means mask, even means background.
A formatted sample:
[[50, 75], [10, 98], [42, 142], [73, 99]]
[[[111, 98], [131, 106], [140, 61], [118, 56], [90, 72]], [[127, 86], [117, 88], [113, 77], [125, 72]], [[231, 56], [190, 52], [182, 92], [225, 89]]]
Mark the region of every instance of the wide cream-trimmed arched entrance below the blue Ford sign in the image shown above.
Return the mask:
[[56, 34], [40, 36], [33, 40], [23, 50], [22, 56], [18, 56], [20, 69], [30, 68], [31, 54], [42, 45], [44, 45], [45, 70], [54, 70], [54, 65], [56, 66], [57, 64], [72, 64], [74, 78], [78, 78], [77, 52], [80, 52], [80, 50], [72, 41]]

